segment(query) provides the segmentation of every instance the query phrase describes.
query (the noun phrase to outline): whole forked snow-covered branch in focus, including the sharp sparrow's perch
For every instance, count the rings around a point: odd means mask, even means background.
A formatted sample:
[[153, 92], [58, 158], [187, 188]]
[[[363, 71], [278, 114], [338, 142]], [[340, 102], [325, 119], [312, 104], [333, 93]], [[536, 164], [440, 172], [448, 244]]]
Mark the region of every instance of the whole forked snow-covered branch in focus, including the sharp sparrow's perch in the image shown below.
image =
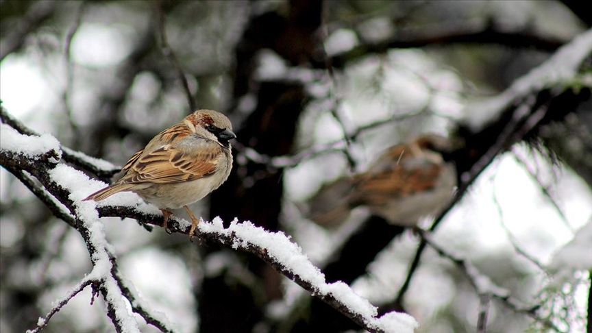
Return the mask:
[[[3, 121], [5, 121], [5, 115], [8, 113], [2, 110]], [[172, 325], [166, 319], [143, 304], [134, 288], [126, 286], [125, 279], [116, 267], [112, 245], [106, 240], [104, 225], [99, 220], [99, 216], [132, 217], [144, 223], [160, 225], [162, 215], [158, 213], [158, 209], [141, 203], [133, 193], [117, 195], [117, 201], [106, 200], [99, 204], [94, 201], [83, 202], [82, 199], [90, 190], [103, 184], [89, 180], [82, 171], [60, 163], [62, 149], [58, 140], [52, 136], [46, 134], [47, 137], [42, 144], [40, 136], [21, 134], [22, 132], [19, 133], [20, 131], [16, 130], [7, 124], [1, 125], [0, 164], [15, 175], [26, 172], [36, 177], [45, 189], [36, 190], [34, 193], [45, 197], [43, 202], [52, 211], [62, 211], [61, 208], [55, 207], [58, 206], [58, 202], [69, 210], [69, 214], [62, 212], [56, 216], [68, 220], [66, 222], [82, 235], [93, 262], [93, 271], [86, 275], [77, 288], [61, 299], [49, 313], [53, 315], [58, 312], [78, 289], [82, 290], [87, 281], [92, 281], [93, 286], [96, 284], [95, 290], [99, 291], [106, 301], [107, 314], [117, 332], [139, 332], [138, 323], [133, 313], [128, 310], [124, 299], [130, 301], [132, 310], [145, 318], [148, 323], [155, 325], [163, 332], [174, 332]], [[122, 198], [124, 200], [121, 200]], [[190, 227], [188, 221], [171, 220], [169, 226], [172, 232], [188, 234]], [[370, 332], [404, 333], [413, 332], [417, 327], [417, 321], [408, 314], [388, 312], [379, 317], [375, 306], [343, 282], [330, 284], [325, 282], [323, 273], [314, 267], [308, 257], [302, 253], [301, 248], [282, 232], [268, 232], [249, 221], [238, 223], [236, 219], [230, 223], [229, 227], [224, 227], [219, 218], [211, 223], [201, 221], [198, 230], [201, 240], [227, 245], [258, 256], [312, 295], [319, 297]], [[40, 319], [42, 325], [47, 325], [47, 321], [51, 318], [50, 314]]]

